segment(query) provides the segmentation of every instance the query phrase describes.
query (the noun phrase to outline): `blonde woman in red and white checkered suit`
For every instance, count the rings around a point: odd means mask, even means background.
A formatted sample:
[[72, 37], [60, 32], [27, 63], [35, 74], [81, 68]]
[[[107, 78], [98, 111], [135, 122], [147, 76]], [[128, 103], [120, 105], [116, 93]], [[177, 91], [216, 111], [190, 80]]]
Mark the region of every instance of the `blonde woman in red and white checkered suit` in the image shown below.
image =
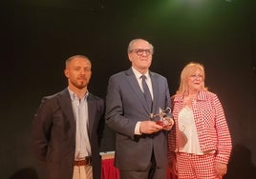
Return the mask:
[[175, 128], [168, 138], [169, 165], [179, 179], [217, 179], [226, 173], [230, 132], [222, 104], [205, 88], [204, 79], [203, 65], [189, 63], [172, 97]]

